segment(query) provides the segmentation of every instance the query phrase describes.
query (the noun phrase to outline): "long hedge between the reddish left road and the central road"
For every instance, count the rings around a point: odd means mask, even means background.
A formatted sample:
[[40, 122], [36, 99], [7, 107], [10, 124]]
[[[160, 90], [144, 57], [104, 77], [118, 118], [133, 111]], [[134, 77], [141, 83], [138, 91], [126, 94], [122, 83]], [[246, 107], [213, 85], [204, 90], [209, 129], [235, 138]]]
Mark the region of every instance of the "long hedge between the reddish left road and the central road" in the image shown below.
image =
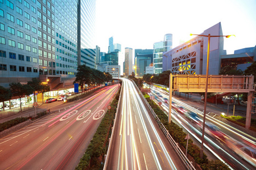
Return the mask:
[[100, 126], [98, 126], [92, 141], [90, 141], [90, 144], [87, 147], [84, 156], [82, 156], [80, 159], [80, 163], [77, 165], [76, 169], [102, 169], [101, 161], [98, 158], [104, 156], [108, 150], [108, 143], [106, 143], [106, 139], [111, 136], [110, 127], [112, 127], [114, 124], [114, 117], [115, 112], [117, 112], [120, 90], [121, 88], [119, 88], [115, 99], [110, 104], [110, 112], [105, 113]]

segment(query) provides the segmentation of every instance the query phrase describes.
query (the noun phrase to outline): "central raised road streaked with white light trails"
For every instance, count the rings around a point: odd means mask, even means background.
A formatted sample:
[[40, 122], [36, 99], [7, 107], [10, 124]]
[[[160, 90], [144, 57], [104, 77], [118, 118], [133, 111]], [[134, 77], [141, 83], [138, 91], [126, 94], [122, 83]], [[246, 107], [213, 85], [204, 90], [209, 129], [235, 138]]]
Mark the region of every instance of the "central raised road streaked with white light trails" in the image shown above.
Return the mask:
[[121, 107], [104, 169], [185, 169], [134, 84], [123, 79], [122, 86]]

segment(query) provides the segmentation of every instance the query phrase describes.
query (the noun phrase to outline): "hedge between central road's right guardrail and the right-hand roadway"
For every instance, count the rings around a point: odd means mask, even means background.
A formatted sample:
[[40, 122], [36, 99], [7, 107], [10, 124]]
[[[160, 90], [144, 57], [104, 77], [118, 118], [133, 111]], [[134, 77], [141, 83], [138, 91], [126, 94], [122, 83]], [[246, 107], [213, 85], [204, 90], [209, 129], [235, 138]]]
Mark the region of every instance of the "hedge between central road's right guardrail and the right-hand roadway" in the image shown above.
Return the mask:
[[[171, 124], [169, 124], [167, 115], [159, 108], [159, 106], [154, 101], [150, 100], [148, 95], [144, 96], [159, 120], [169, 131], [174, 141], [180, 143], [180, 145], [185, 148], [187, 146], [187, 140], [185, 140], [187, 134], [174, 122], [171, 121]], [[220, 160], [209, 161], [205, 154], [203, 155], [203, 159], [201, 159], [200, 148], [193, 143], [192, 139], [188, 140], [188, 154], [195, 159], [195, 162], [199, 164], [202, 169], [229, 169], [228, 165], [222, 163]]]

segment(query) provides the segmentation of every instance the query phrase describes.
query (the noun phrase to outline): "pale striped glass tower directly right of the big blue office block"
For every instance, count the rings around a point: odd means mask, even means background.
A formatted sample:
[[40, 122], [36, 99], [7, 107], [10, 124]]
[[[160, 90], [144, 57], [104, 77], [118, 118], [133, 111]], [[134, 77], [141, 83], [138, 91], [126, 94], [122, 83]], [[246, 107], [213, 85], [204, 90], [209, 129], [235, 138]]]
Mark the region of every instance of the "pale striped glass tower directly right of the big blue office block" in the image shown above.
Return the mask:
[[78, 0], [77, 62], [96, 69], [95, 20], [96, 0]]

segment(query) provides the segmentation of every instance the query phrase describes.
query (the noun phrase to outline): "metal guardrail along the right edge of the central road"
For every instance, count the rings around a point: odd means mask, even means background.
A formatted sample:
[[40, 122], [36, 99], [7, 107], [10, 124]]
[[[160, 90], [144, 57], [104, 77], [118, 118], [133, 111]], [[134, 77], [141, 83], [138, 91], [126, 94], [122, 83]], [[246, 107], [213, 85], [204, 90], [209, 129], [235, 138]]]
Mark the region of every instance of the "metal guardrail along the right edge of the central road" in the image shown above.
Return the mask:
[[[133, 83], [134, 81], [131, 80]], [[134, 83], [135, 84], [135, 83]], [[135, 84], [136, 85], [136, 84]], [[183, 153], [183, 151], [181, 151], [180, 147], [177, 145], [177, 143], [174, 141], [174, 139], [171, 137], [170, 133], [168, 132], [168, 130], [166, 129], [166, 127], [164, 127], [164, 125], [162, 124], [162, 122], [159, 120], [158, 116], [155, 114], [154, 110], [151, 108], [151, 106], [148, 104], [147, 100], [145, 99], [145, 97], [143, 96], [142, 92], [139, 90], [139, 88], [137, 86], [135, 86], [137, 88], [137, 90], [139, 91], [139, 95], [141, 95], [142, 99], [144, 100], [144, 103], [146, 103], [148, 109], [150, 109], [151, 114], [154, 116], [156, 122], [158, 123], [160, 129], [162, 129], [164, 135], [166, 135], [168, 141], [171, 143], [172, 147], [174, 147], [175, 151], [177, 152], [177, 154], [180, 156], [181, 160], [183, 161], [183, 163], [185, 164], [185, 166], [188, 169], [195, 169], [195, 167], [193, 167], [192, 163], [188, 160], [188, 158], [185, 156], [185, 154]]]

